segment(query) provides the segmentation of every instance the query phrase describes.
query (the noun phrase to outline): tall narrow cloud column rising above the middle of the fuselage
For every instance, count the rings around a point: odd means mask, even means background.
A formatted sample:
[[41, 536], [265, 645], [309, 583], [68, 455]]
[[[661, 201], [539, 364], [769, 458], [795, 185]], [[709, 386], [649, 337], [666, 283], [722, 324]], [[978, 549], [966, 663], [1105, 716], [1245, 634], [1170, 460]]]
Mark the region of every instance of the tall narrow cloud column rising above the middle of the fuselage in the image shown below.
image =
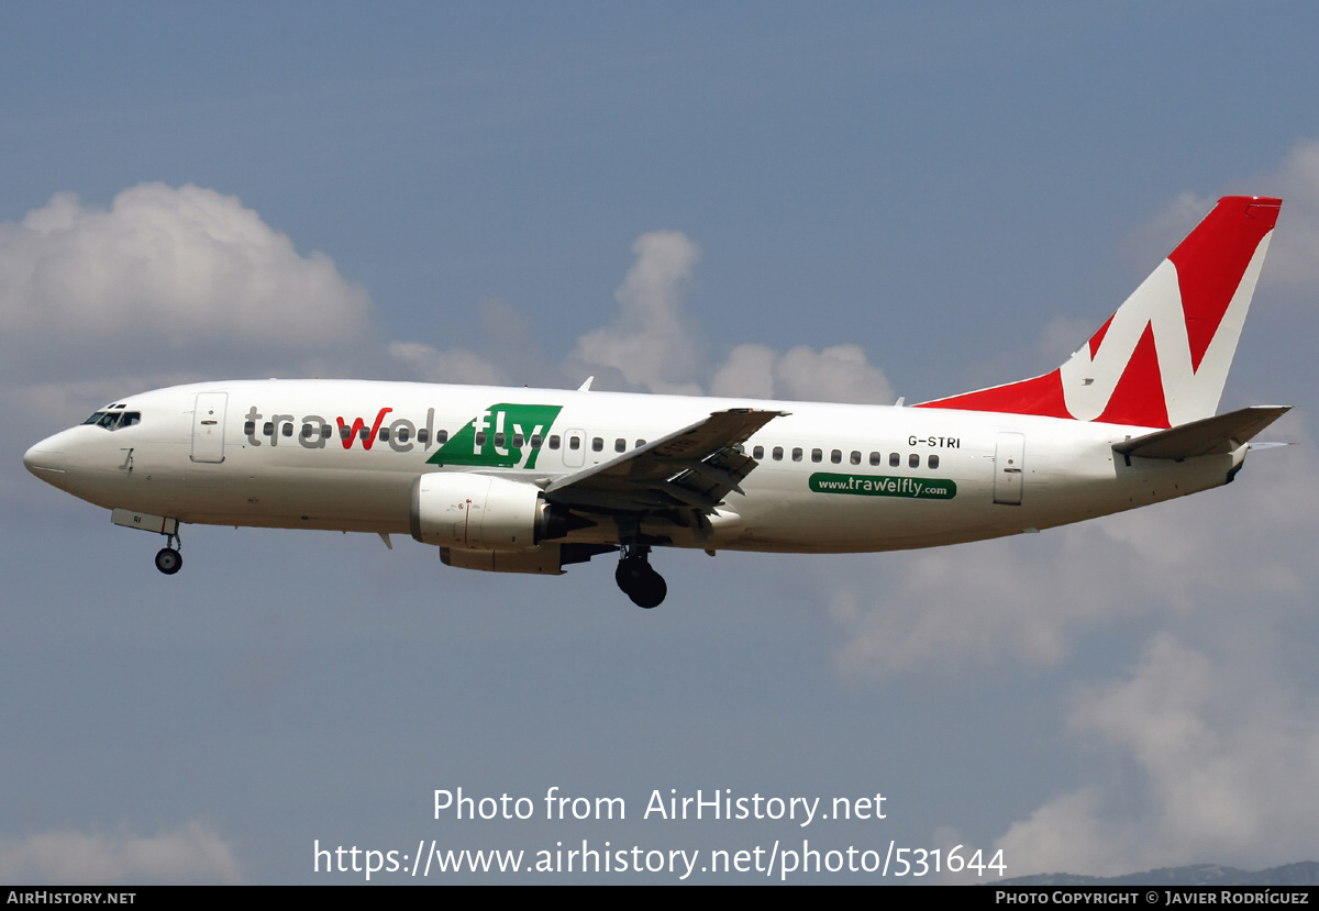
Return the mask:
[[637, 239], [632, 252], [637, 260], [615, 294], [617, 318], [583, 335], [574, 359], [587, 369], [612, 368], [650, 392], [699, 396], [692, 381], [696, 340], [682, 291], [700, 249], [681, 231], [652, 231]]

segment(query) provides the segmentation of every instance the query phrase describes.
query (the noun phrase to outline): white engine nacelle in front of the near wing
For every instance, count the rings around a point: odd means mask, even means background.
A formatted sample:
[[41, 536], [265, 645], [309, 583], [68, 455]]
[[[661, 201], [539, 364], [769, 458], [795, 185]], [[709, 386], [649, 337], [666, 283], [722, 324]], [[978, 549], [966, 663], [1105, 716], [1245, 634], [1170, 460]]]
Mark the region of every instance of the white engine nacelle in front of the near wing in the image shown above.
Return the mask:
[[466, 472], [418, 477], [409, 518], [423, 544], [481, 551], [529, 550], [554, 525], [539, 488]]

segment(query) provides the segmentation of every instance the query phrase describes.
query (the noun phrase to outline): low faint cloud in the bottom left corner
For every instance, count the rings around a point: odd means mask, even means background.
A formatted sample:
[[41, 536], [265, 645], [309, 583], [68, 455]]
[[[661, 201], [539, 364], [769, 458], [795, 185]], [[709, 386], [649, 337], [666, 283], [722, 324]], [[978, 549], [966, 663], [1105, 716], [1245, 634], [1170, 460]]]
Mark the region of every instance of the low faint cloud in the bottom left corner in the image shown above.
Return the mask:
[[243, 878], [230, 845], [210, 825], [194, 820], [154, 837], [45, 832], [22, 841], [0, 841], [0, 879], [71, 886], [237, 885]]

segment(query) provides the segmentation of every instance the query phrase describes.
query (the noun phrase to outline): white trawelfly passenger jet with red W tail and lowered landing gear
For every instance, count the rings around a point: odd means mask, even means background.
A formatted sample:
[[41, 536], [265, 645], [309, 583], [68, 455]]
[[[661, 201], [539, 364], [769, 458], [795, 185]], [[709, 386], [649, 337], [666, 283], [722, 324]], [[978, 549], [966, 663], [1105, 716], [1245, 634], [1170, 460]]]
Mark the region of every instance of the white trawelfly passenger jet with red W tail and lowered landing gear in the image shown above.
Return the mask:
[[1043, 376], [919, 405], [351, 380], [116, 398], [24, 455], [165, 537], [182, 523], [410, 534], [466, 570], [561, 575], [656, 547], [835, 554], [1067, 525], [1231, 483], [1289, 406], [1216, 414], [1281, 200], [1224, 196]]

